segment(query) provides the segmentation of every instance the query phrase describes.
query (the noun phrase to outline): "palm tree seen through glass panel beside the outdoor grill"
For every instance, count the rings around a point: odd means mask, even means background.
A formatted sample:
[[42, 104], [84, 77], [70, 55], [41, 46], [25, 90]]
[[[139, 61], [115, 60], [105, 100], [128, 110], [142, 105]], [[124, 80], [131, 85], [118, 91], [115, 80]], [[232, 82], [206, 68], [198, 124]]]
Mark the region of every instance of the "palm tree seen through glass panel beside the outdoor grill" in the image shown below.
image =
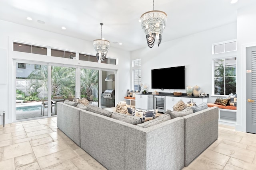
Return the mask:
[[99, 83], [98, 70], [81, 69], [80, 79], [81, 79], [81, 91], [82, 89], [86, 90], [86, 95], [88, 97], [92, 95], [93, 90], [98, 91], [98, 83]]

